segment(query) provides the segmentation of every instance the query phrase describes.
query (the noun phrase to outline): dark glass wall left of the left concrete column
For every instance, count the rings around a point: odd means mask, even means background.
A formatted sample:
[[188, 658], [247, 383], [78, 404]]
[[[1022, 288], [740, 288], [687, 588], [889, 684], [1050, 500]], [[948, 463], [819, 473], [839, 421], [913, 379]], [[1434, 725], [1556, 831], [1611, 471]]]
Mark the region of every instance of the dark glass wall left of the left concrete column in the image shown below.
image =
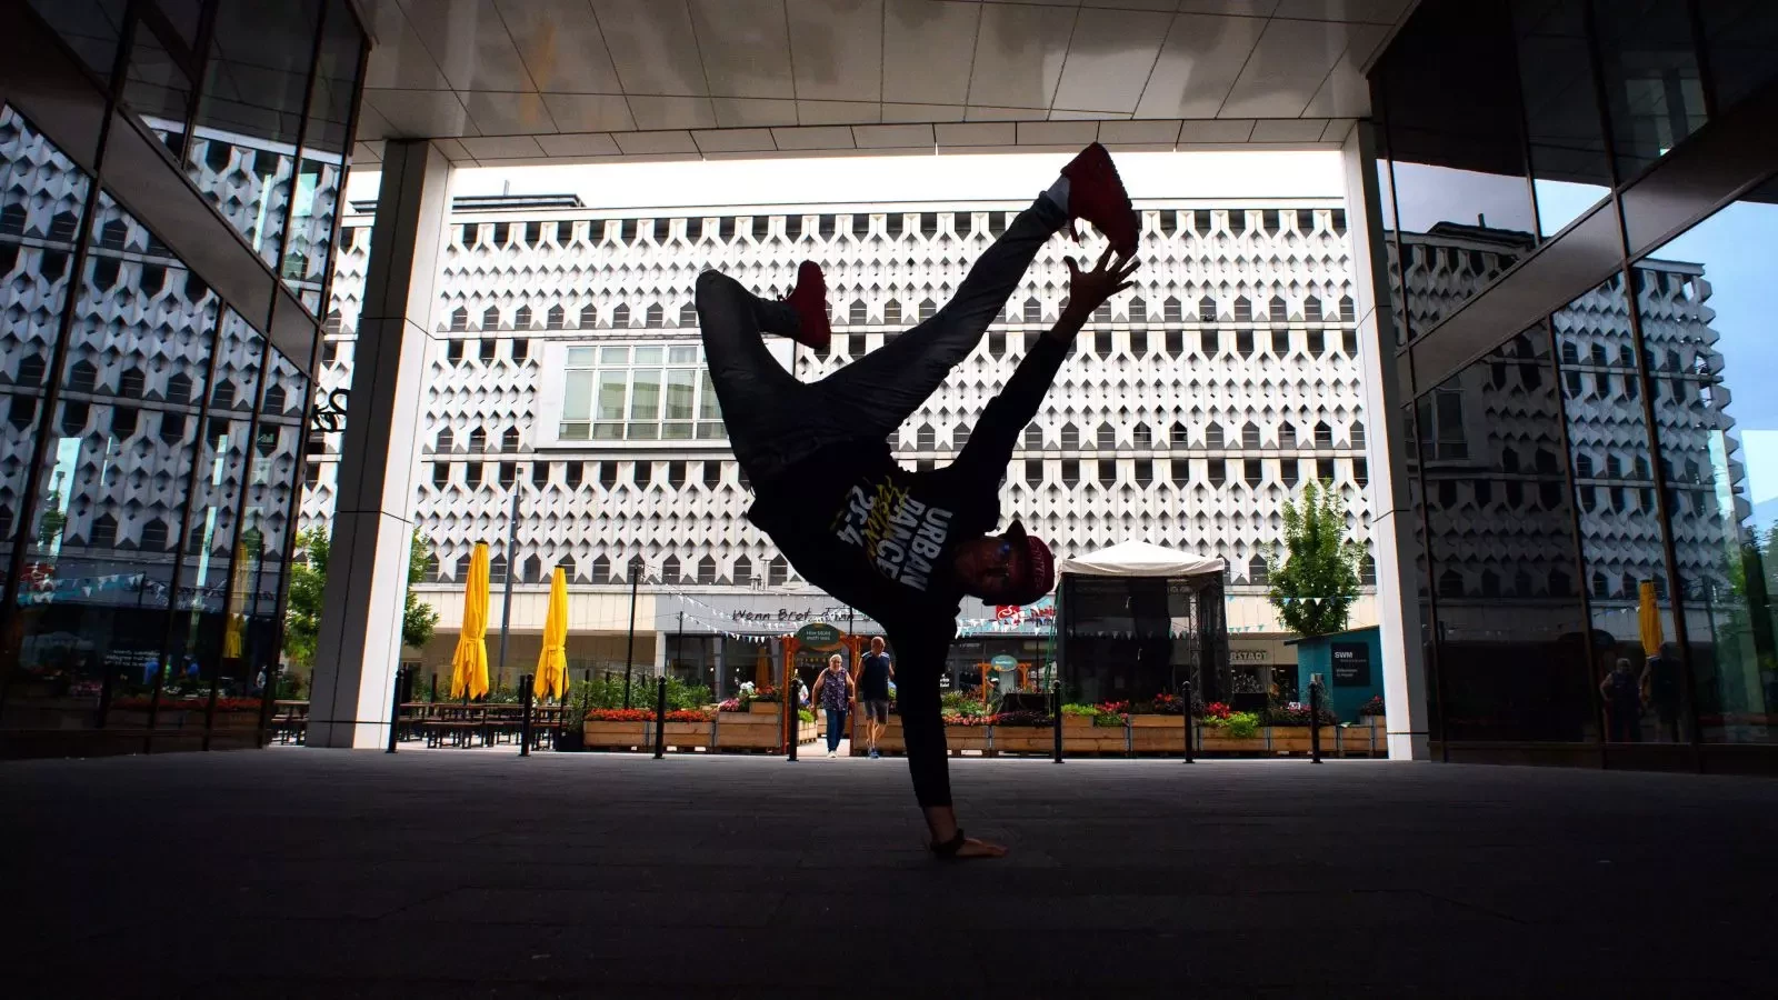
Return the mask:
[[[345, 0], [213, 5], [34, 4], [20, 28], [69, 75], [60, 105], [7, 80], [0, 109], [7, 753], [252, 744], [276, 689], [320, 340], [295, 302], [325, 281], [288, 251], [325, 269], [364, 36]], [[192, 205], [130, 201], [156, 169]], [[281, 310], [302, 322], [274, 342]]]

